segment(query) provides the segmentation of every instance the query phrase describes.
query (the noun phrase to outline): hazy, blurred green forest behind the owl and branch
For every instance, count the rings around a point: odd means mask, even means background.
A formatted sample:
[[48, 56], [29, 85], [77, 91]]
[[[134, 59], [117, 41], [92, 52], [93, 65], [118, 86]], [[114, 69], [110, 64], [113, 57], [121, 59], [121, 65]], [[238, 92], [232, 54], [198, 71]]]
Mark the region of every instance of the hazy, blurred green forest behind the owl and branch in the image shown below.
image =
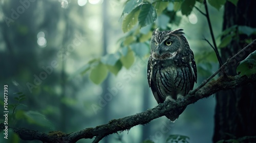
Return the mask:
[[[8, 85], [9, 126], [71, 133], [157, 105], [146, 78], [148, 45], [137, 52], [133, 49], [135, 52], [117, 62], [121, 66], [88, 68], [92, 60], [106, 62], [115, 57], [114, 53], [127, 40], [123, 37], [129, 33], [123, 33], [121, 17], [125, 1], [23, 2], [27, 3], [0, 1], [0, 92]], [[168, 8], [172, 9], [172, 4]], [[209, 12], [214, 34], [219, 35], [223, 8], [218, 11], [209, 6]], [[202, 40], [210, 40], [207, 21], [196, 9], [188, 17], [180, 11], [177, 16], [181, 21], [168, 23], [169, 17], [159, 15], [156, 25], [162, 29], [184, 29], [197, 61], [197, 86], [218, 67], [214, 51]], [[148, 25], [139, 32], [148, 33], [151, 27]], [[145, 43], [148, 40], [150, 37]], [[102, 58], [104, 55], [107, 56]], [[3, 98], [0, 97], [1, 105]], [[189, 142], [211, 142], [214, 108], [214, 98], [203, 99], [189, 105], [175, 123], [163, 116], [145, 126], [109, 135], [100, 142], [164, 142], [170, 134], [188, 136]], [[0, 109], [3, 113], [4, 109]], [[0, 120], [4, 121], [3, 116]], [[168, 132], [163, 133], [163, 127]], [[1, 132], [0, 142], [40, 141], [21, 140], [9, 130], [8, 140]]]

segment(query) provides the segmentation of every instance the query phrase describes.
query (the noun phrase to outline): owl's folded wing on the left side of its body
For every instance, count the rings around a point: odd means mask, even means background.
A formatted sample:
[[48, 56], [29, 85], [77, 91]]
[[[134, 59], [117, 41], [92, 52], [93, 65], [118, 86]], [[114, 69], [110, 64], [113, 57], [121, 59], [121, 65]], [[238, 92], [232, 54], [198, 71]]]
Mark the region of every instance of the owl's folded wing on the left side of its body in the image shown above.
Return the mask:
[[154, 81], [154, 78], [153, 78], [153, 64], [152, 64], [151, 56], [147, 62], [147, 82], [148, 82], [148, 85], [151, 87], [151, 90], [153, 92], [153, 95], [154, 95], [157, 103], [158, 104], [163, 103], [164, 100], [161, 98], [160, 93], [156, 87], [156, 81]]

